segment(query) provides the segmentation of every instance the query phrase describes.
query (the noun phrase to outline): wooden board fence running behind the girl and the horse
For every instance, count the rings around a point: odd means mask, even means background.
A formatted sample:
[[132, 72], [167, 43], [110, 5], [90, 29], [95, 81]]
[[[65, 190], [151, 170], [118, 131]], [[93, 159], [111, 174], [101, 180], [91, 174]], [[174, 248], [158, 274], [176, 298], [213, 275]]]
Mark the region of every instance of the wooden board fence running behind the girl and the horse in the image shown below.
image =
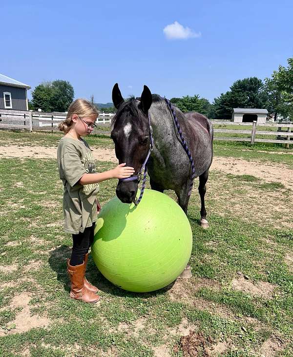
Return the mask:
[[[96, 124], [111, 124], [114, 114], [101, 113], [96, 120]], [[59, 131], [57, 126], [61, 120], [66, 118], [66, 113], [60, 112], [34, 112], [34, 111], [14, 111], [0, 110], [0, 129], [28, 130], [28, 131]], [[223, 134], [246, 134], [248, 137], [236, 136], [216, 136], [214, 140], [226, 141], [248, 141], [253, 145], [255, 142], [269, 142], [285, 144], [286, 148], [293, 145], [293, 124], [292, 123], [235, 123], [229, 120], [211, 120], [213, 125], [235, 126], [235, 129], [214, 128], [214, 133]], [[250, 126], [252, 129], [239, 130], [237, 126]], [[276, 131], [266, 131], [263, 128], [276, 128]], [[285, 129], [285, 130], [284, 130]], [[107, 134], [105, 132], [105, 134]], [[257, 135], [275, 135], [272, 138], [258, 138]]]

